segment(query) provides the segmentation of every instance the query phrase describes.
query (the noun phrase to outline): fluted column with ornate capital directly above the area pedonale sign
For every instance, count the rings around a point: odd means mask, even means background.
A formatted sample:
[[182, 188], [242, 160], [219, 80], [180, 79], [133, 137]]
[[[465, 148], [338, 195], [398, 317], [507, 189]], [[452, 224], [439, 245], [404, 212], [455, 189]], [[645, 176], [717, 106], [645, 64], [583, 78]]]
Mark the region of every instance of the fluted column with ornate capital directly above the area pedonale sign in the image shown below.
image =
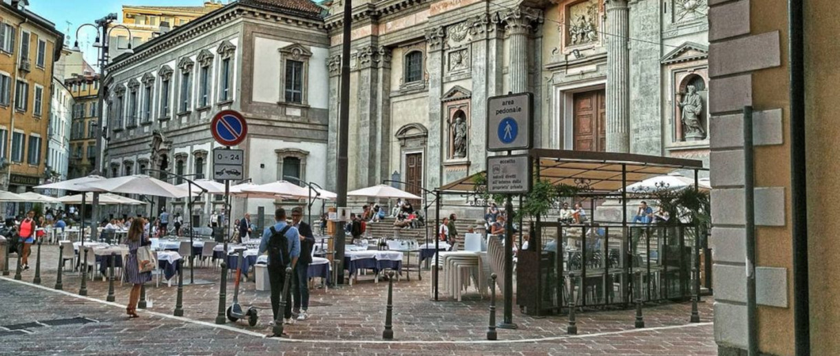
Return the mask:
[[501, 13], [510, 44], [511, 92], [528, 92], [528, 34], [542, 19], [542, 12], [533, 8], [515, 8]]

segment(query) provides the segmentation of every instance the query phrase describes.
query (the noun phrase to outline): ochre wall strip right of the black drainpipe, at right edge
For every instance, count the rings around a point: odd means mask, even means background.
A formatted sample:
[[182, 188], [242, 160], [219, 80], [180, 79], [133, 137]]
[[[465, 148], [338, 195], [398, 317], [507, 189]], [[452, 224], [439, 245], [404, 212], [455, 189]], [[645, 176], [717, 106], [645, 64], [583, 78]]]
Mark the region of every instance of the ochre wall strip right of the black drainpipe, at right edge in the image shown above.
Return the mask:
[[840, 350], [840, 70], [837, 3], [816, 0], [805, 4], [806, 154], [808, 190], [808, 255], [811, 259], [811, 354], [837, 354]]

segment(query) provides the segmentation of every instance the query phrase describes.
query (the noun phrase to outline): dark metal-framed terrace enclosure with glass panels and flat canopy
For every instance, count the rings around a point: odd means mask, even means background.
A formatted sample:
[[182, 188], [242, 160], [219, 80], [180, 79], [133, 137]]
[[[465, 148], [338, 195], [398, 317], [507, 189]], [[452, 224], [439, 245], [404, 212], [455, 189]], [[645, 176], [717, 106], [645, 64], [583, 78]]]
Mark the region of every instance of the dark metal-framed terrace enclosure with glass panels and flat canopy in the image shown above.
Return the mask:
[[[677, 171], [690, 171], [693, 186], [700, 186], [698, 173], [706, 170], [701, 161], [555, 149], [531, 149], [528, 155], [533, 181], [578, 188], [570, 198], [586, 208], [588, 219], [575, 223], [535, 216], [524, 223], [529, 226], [522, 226], [519, 233], [528, 230], [530, 239], [528, 248], [519, 245], [516, 301], [525, 313], [568, 311], [570, 300], [584, 308], [625, 307], [637, 298], [643, 302], [685, 301], [699, 293], [700, 278], [691, 272], [691, 266], [700, 267], [701, 245], [696, 238], [700, 227], [677, 219], [665, 225], [632, 222], [627, 217], [627, 201], [643, 196], [624, 188]], [[436, 191], [440, 195], [475, 195], [486, 191], [486, 183], [481, 182], [485, 180], [478, 179], [482, 175], [486, 172]], [[439, 221], [442, 200], [437, 203]], [[596, 214], [596, 207], [616, 213], [607, 218]], [[503, 256], [490, 259], [491, 270], [501, 276]], [[711, 280], [711, 275], [706, 275], [706, 281]], [[433, 280], [437, 294], [437, 278]], [[636, 289], [633, 280], [641, 281]]]

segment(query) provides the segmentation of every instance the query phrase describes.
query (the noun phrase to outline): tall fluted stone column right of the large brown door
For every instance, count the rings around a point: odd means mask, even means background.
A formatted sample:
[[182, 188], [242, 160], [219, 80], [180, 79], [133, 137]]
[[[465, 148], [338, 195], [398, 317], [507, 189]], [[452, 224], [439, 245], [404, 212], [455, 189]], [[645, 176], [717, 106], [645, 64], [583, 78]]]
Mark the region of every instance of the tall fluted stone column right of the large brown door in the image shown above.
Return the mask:
[[606, 0], [606, 150], [630, 152], [630, 34], [627, 0]]

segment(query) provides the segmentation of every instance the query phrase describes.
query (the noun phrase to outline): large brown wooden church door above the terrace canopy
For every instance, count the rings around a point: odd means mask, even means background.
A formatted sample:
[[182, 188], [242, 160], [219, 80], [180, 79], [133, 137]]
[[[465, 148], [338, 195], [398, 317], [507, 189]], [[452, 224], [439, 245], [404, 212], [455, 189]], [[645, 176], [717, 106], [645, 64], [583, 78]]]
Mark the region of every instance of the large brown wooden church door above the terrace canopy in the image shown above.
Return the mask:
[[606, 150], [606, 91], [578, 92], [573, 101], [574, 149]]

